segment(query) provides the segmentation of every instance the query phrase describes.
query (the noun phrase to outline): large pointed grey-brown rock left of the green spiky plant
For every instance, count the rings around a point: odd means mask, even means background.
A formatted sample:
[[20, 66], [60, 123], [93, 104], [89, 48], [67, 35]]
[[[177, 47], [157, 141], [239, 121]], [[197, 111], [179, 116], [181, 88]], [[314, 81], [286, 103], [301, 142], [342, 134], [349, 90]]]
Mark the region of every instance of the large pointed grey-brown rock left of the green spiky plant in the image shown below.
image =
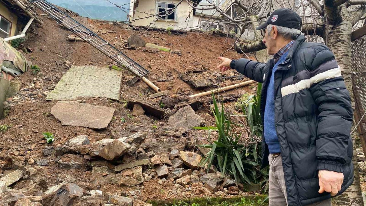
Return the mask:
[[179, 129], [180, 132], [184, 133], [187, 130], [200, 126], [203, 122], [203, 118], [195, 114], [191, 106], [185, 106], [180, 108], [175, 114], [169, 117], [169, 125]]

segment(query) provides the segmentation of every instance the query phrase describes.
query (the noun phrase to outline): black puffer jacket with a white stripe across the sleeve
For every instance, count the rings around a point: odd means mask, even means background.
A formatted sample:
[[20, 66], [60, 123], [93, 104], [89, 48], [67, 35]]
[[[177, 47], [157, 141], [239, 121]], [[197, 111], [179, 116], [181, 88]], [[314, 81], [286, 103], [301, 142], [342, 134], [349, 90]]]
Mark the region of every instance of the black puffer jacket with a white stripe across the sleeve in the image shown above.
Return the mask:
[[[275, 73], [275, 122], [289, 206], [331, 198], [330, 193], [318, 193], [318, 170], [344, 174], [339, 194], [353, 181], [350, 95], [328, 47], [304, 41], [304, 36], [298, 37]], [[262, 120], [273, 66], [273, 59], [266, 64], [249, 59], [231, 64], [239, 73], [264, 83]], [[262, 143], [265, 167], [269, 151], [264, 138]]]

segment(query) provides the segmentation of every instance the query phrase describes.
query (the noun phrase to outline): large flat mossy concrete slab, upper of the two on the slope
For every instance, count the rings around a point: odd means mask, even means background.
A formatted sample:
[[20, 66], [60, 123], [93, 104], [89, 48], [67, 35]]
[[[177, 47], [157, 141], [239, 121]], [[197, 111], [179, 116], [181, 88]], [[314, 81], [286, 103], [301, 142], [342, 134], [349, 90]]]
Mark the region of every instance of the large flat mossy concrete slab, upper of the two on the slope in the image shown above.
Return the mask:
[[103, 97], [119, 100], [122, 73], [107, 67], [72, 66], [61, 78], [47, 100], [72, 100]]

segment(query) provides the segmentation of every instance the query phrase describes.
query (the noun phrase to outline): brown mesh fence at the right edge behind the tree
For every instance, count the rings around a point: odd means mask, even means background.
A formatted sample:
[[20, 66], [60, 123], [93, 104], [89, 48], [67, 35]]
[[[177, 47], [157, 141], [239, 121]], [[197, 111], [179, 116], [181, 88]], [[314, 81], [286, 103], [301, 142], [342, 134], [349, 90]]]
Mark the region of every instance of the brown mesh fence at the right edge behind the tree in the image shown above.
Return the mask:
[[[356, 121], [365, 114], [366, 111], [366, 36], [352, 42], [352, 89], [355, 100]], [[356, 123], [357, 123], [356, 122]], [[359, 134], [365, 141], [366, 117], [360, 122], [361, 133]]]

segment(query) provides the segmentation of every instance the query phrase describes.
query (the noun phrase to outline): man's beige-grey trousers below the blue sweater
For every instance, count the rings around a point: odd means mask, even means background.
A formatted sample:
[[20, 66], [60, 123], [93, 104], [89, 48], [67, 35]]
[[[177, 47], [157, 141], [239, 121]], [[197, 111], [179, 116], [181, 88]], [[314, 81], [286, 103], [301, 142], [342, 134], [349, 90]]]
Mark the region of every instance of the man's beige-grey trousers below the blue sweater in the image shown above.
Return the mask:
[[[287, 206], [285, 177], [281, 155], [269, 154], [269, 206]], [[310, 204], [308, 206], [331, 206], [330, 199]]]

